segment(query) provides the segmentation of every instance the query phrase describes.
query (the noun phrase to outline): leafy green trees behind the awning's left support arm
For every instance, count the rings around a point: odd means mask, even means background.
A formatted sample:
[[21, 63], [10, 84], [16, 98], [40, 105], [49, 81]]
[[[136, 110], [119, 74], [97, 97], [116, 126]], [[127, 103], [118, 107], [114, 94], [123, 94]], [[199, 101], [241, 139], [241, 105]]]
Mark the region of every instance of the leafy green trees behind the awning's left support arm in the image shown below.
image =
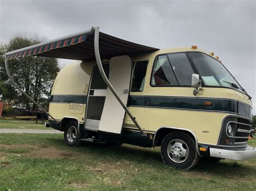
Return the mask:
[[[41, 43], [38, 36], [28, 37], [26, 34], [17, 34], [12, 38], [8, 45], [1, 45], [2, 51], [10, 52], [15, 49], [35, 45]], [[1, 54], [2, 55], [2, 54]], [[47, 96], [50, 93], [52, 83], [59, 72], [57, 59], [44, 58], [39, 56], [27, 56], [25, 58], [18, 58], [9, 60], [9, 69], [14, 81], [21, 87], [26, 94], [30, 95], [36, 102], [46, 107]], [[31, 104], [25, 96], [16, 90], [10, 83], [8, 76], [5, 73], [4, 58], [0, 58], [0, 67], [2, 75], [0, 79], [0, 94], [4, 93], [4, 100], [13, 102], [18, 105], [21, 104], [26, 109], [37, 109], [36, 105]], [[2, 85], [1, 85], [2, 84]]]

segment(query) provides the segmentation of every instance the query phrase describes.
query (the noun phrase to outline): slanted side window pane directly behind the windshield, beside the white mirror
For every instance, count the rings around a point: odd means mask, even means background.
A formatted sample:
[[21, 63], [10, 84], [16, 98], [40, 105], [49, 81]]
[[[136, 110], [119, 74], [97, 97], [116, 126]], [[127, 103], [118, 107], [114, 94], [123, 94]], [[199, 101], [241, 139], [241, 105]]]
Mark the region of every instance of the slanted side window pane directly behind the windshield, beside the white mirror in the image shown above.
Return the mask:
[[191, 86], [191, 77], [194, 71], [186, 54], [174, 53], [168, 54], [168, 57], [180, 86]]

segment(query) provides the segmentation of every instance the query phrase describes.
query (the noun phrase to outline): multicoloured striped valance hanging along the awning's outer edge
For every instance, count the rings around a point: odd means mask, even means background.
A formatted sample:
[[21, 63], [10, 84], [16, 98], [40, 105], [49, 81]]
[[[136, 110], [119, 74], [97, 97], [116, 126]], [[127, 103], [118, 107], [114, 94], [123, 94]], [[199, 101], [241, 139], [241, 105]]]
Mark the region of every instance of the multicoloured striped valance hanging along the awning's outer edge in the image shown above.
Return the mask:
[[60, 40], [60, 41], [57, 41], [55, 43], [51, 43], [48, 45], [43, 45], [43, 46], [28, 49], [28, 50], [24, 50], [24, 51], [21, 51], [18, 53], [13, 53], [13, 54], [7, 55], [6, 60], [11, 60], [11, 59], [19, 58], [19, 57], [30, 56], [30, 55], [37, 55], [37, 54], [41, 54], [41, 53], [50, 51], [52, 49], [62, 48], [62, 47], [70, 46], [70, 45], [76, 45], [78, 43], [84, 42], [86, 40], [86, 37], [87, 37], [87, 34], [82, 34], [77, 37]]

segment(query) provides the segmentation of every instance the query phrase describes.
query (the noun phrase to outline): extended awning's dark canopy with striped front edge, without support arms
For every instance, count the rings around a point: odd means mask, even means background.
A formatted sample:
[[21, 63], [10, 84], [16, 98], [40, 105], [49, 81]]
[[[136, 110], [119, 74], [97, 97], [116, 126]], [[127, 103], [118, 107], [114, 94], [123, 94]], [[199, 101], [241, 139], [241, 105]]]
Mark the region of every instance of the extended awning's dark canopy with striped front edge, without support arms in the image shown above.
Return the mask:
[[[73, 60], [95, 59], [94, 30], [81, 31], [62, 38], [46, 41], [45, 43], [25, 47], [6, 53], [6, 60], [25, 56], [45, 56]], [[100, 58], [132, 54], [134, 52], [157, 51], [158, 48], [131, 43], [108, 34], [99, 32]]]

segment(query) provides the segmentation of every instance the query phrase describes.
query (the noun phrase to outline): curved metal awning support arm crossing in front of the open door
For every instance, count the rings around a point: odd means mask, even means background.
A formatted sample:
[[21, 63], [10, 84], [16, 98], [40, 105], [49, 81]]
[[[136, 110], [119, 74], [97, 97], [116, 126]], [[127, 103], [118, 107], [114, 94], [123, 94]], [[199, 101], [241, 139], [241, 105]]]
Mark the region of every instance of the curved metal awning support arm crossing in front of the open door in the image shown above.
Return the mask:
[[[92, 31], [93, 31], [93, 28], [92, 28]], [[102, 75], [102, 78], [103, 78], [104, 82], [106, 83], [107, 87], [109, 87], [109, 89], [112, 91], [113, 95], [117, 98], [118, 102], [122, 105], [122, 107], [124, 108], [126, 113], [132, 119], [132, 122], [137, 126], [137, 128], [142, 133], [142, 135], [146, 136], [145, 132], [143, 131], [143, 129], [139, 126], [138, 122], [136, 121], [136, 118], [133, 117], [131, 112], [128, 110], [126, 105], [122, 102], [122, 100], [118, 96], [116, 90], [113, 88], [109, 79], [107, 79], [106, 74], [105, 74], [104, 69], [103, 69], [103, 66], [102, 66], [102, 61], [100, 60], [100, 54], [99, 54], [99, 27], [98, 26], [96, 26], [94, 28], [94, 32], [95, 32], [95, 36], [94, 36], [95, 57], [96, 57], [96, 61], [97, 61], [97, 65], [98, 65], [98, 68], [99, 68], [100, 75]]]

